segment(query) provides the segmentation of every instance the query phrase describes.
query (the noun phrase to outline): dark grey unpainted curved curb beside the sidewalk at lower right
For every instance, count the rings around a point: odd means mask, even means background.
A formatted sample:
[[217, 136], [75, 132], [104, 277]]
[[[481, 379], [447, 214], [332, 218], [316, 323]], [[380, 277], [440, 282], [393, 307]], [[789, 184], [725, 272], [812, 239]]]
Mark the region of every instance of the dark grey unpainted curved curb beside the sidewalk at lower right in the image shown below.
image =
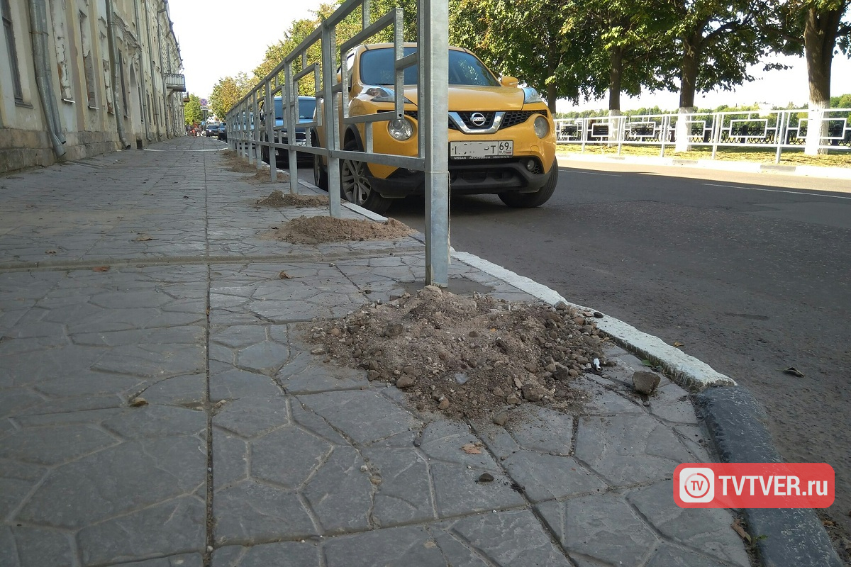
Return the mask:
[[[711, 388], [695, 396], [723, 462], [782, 462], [768, 417], [746, 388]], [[748, 530], [765, 567], [841, 567], [819, 517], [811, 509], [745, 510]]]

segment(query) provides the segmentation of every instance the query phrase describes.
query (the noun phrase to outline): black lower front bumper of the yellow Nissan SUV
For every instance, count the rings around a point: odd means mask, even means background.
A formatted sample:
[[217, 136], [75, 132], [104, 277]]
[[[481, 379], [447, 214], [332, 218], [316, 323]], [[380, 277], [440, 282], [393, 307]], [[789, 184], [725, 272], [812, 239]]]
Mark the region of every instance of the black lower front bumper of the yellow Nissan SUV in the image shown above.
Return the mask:
[[[454, 195], [488, 195], [516, 191], [534, 193], [544, 186], [550, 173], [543, 173], [540, 161], [534, 168], [526, 166], [528, 158], [517, 160], [449, 161], [449, 184]], [[400, 198], [424, 195], [426, 174], [397, 169], [386, 179], [371, 177], [374, 190], [381, 196]]]

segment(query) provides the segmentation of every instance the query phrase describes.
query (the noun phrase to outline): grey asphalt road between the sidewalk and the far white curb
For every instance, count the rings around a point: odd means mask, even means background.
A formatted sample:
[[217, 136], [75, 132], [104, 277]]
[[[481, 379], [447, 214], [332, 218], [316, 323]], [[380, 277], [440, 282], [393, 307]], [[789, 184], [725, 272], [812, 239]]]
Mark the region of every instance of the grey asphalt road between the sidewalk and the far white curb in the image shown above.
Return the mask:
[[[851, 513], [851, 181], [570, 162], [545, 206], [454, 198], [452, 245], [683, 343], [762, 401]], [[424, 229], [423, 200], [390, 216]], [[804, 377], [782, 369], [794, 366]]]

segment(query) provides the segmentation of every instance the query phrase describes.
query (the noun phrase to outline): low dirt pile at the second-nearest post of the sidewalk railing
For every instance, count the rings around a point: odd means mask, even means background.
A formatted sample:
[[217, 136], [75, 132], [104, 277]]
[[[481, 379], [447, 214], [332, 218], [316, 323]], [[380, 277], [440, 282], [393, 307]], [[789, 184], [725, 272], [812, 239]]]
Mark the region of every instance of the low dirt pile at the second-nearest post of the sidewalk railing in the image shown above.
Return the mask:
[[[327, 198], [326, 198], [327, 200]], [[407, 224], [395, 218], [384, 223], [357, 218], [328, 216], [294, 218], [272, 230], [266, 238], [293, 244], [322, 244], [323, 242], [393, 240], [413, 233]]]

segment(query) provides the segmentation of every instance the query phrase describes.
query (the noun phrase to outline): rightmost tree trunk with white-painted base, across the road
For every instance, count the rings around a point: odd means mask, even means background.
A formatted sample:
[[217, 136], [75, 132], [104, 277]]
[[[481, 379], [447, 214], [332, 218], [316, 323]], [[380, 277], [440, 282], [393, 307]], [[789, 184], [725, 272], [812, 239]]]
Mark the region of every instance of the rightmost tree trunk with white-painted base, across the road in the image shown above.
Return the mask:
[[826, 153], [820, 150], [820, 145], [823, 141], [826, 143], [823, 140], [828, 127], [825, 109], [831, 107], [831, 64], [841, 19], [842, 10], [807, 10], [803, 43], [809, 81], [807, 142], [804, 145], [804, 153], [808, 156]]

